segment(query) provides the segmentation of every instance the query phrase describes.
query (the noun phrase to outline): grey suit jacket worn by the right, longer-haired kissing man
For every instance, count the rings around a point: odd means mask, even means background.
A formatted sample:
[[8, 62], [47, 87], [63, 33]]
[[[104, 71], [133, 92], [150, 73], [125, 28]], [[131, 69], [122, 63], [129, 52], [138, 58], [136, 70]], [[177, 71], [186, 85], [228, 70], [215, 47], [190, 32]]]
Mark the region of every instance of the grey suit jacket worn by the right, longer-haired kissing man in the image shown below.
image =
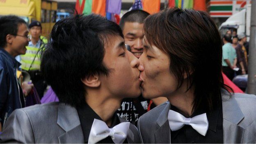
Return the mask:
[[[171, 143], [168, 123], [170, 103], [166, 102], [142, 115], [138, 121], [143, 143]], [[222, 90], [224, 143], [256, 143], [256, 96]]]

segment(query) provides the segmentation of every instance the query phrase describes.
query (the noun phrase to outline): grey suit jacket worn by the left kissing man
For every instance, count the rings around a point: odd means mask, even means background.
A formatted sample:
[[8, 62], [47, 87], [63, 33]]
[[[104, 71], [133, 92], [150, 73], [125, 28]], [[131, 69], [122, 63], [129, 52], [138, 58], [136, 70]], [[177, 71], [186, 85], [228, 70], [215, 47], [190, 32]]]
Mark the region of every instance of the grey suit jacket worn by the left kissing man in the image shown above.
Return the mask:
[[[126, 120], [120, 118], [120, 121]], [[84, 143], [84, 136], [77, 110], [55, 102], [15, 110], [0, 140], [8, 143]], [[133, 124], [130, 124], [127, 140], [128, 143], [141, 143]]]

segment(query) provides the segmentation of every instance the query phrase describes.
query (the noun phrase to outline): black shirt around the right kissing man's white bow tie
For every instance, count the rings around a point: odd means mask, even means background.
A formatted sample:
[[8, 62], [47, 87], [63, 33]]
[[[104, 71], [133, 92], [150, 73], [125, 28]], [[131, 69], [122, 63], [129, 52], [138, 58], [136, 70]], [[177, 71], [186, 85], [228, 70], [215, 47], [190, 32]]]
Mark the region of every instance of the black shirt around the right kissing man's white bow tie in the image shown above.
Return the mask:
[[[182, 114], [173, 105], [171, 105], [171, 110]], [[196, 111], [191, 115], [191, 118], [203, 113], [205, 113], [203, 109]], [[206, 136], [199, 134], [192, 126], [185, 125], [179, 130], [171, 131], [171, 143], [223, 143], [222, 104], [206, 115], [209, 123]], [[185, 117], [184, 114], [183, 116]]]

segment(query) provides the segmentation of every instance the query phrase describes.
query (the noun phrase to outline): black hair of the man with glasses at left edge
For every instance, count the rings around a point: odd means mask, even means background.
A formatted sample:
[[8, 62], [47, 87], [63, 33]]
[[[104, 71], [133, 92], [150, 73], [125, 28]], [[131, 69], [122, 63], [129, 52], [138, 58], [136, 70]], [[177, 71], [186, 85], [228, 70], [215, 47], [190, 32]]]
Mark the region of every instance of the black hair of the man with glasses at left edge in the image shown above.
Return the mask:
[[0, 47], [6, 46], [6, 36], [13, 34], [14, 36], [18, 32], [18, 26], [21, 24], [27, 24], [22, 18], [18, 16], [9, 15], [0, 17]]

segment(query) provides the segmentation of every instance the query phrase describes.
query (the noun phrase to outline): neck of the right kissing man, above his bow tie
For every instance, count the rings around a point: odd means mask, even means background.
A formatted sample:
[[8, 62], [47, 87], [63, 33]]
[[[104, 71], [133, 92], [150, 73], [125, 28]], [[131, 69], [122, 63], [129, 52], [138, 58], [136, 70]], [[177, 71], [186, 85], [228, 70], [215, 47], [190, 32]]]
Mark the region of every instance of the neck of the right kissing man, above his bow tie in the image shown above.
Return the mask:
[[193, 113], [193, 106], [194, 106], [194, 87], [190, 90], [187, 90], [187, 79], [184, 80], [181, 87], [175, 91], [174, 93], [167, 96], [168, 101], [171, 105], [181, 110], [183, 114], [190, 117]]

